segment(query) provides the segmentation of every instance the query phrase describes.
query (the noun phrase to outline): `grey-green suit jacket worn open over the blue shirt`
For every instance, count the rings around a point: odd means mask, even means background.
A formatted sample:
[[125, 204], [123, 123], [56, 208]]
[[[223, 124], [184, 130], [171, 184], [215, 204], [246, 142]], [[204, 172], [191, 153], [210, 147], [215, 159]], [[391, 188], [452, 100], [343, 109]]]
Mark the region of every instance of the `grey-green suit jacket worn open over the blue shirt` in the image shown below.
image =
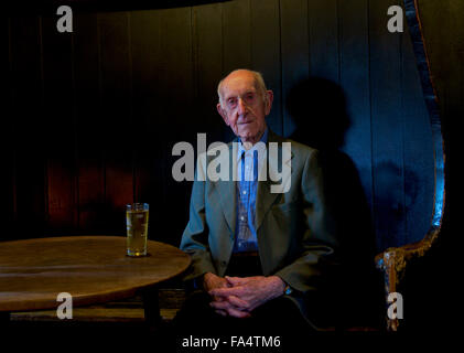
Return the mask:
[[[278, 142], [279, 150], [282, 142], [291, 142], [290, 160], [283, 160], [291, 164], [291, 184], [285, 193], [271, 193], [274, 182], [270, 178], [258, 183], [255, 226], [262, 272], [281, 277], [294, 289], [285, 297], [314, 325], [317, 318], [311, 307], [317, 306], [321, 312], [320, 300], [325, 297], [324, 290], [330, 290], [326, 285], [337, 267], [338, 229], [326, 202], [319, 151], [272, 131], [269, 131], [268, 147], [270, 142]], [[233, 143], [228, 149], [231, 165]], [[206, 159], [209, 161], [209, 157]], [[181, 243], [181, 249], [192, 256], [191, 271], [185, 279], [206, 272], [225, 275], [236, 234], [235, 183], [231, 178], [229, 181], [195, 179], [190, 221]]]

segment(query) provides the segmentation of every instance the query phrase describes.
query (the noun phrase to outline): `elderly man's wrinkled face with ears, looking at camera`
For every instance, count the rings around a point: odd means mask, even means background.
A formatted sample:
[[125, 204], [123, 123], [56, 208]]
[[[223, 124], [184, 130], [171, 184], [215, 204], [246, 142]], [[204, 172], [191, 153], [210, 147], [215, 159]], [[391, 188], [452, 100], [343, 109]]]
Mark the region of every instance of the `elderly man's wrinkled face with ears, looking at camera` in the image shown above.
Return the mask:
[[217, 110], [242, 142], [256, 143], [266, 130], [272, 92], [266, 94], [267, 103], [256, 88], [255, 76], [247, 71], [234, 72], [223, 82], [223, 106], [218, 104]]

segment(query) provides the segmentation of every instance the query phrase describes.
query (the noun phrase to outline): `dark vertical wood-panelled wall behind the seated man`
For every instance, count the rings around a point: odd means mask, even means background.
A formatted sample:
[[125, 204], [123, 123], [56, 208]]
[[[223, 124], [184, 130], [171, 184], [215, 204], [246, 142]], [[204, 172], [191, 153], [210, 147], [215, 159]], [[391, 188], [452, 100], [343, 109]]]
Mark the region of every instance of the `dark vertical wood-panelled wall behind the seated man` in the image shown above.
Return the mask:
[[[335, 124], [324, 110], [346, 108], [350, 125], [336, 147], [355, 162], [373, 206], [378, 249], [419, 238], [423, 229], [411, 225], [430, 206], [431, 179], [416, 184], [414, 174], [430, 174], [423, 141], [429, 132], [408, 34], [387, 31], [387, 9], [395, 3], [238, 0], [76, 12], [73, 34], [54, 30], [55, 14], [44, 13], [43, 21], [11, 18], [10, 210], [39, 234], [44, 224], [56, 232], [123, 234], [123, 205], [149, 202], [151, 224], [170, 227], [169, 234], [153, 227], [150, 237], [179, 244], [191, 183], [173, 180], [172, 147], [195, 146], [197, 132], [207, 132], [208, 142], [229, 139], [216, 113], [216, 86], [230, 69], [251, 67], [274, 92], [268, 121], [278, 133], [311, 135], [316, 122]], [[461, 9], [457, 2], [450, 7], [447, 26], [457, 23]], [[460, 62], [462, 46], [451, 50], [457, 42], [440, 45]], [[432, 53], [432, 64], [439, 54]], [[453, 103], [450, 114], [463, 95], [460, 69], [452, 88], [445, 88], [450, 73], [439, 76], [444, 101]], [[319, 101], [325, 108], [317, 114], [303, 98], [301, 130], [287, 98], [310, 75], [339, 96]], [[346, 107], [334, 103], [342, 96]], [[322, 140], [334, 139], [321, 131]]]

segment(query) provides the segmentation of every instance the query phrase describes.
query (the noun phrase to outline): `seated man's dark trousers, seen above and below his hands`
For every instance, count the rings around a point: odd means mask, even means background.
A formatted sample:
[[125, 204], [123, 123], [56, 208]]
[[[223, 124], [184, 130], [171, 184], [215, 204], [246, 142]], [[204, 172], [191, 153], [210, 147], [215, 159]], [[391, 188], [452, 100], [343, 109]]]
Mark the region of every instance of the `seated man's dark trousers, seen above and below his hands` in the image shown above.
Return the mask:
[[[228, 266], [228, 276], [261, 275], [259, 257], [233, 257]], [[191, 292], [173, 321], [177, 347], [185, 338], [222, 338], [230, 342], [233, 336], [260, 336], [279, 341], [280, 347], [292, 352], [304, 351], [307, 336], [314, 329], [305, 321], [294, 302], [284, 297], [272, 299], [251, 312], [250, 318], [238, 319], [217, 314], [209, 306], [211, 296], [203, 290]], [[236, 339], [238, 340], [238, 339]], [[258, 339], [259, 341], [260, 339]], [[269, 341], [268, 341], [269, 342]], [[223, 346], [223, 349], [225, 349]], [[230, 349], [230, 346], [227, 346]], [[257, 347], [257, 346], [255, 346]], [[263, 347], [262, 350], [266, 351]], [[227, 352], [227, 350], [223, 350]], [[284, 352], [280, 350], [280, 352]], [[259, 350], [257, 350], [259, 352]]]

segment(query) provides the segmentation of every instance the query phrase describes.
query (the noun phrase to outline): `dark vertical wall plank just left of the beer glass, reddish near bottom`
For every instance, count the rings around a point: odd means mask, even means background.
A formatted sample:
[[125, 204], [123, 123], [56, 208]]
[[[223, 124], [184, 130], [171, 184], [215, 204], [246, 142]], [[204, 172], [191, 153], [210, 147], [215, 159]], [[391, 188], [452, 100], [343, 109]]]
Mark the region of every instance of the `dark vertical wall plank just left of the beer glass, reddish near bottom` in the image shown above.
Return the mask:
[[125, 205], [133, 201], [132, 75], [127, 12], [98, 18], [101, 75], [101, 118], [105, 125], [105, 204], [107, 228], [125, 234]]

